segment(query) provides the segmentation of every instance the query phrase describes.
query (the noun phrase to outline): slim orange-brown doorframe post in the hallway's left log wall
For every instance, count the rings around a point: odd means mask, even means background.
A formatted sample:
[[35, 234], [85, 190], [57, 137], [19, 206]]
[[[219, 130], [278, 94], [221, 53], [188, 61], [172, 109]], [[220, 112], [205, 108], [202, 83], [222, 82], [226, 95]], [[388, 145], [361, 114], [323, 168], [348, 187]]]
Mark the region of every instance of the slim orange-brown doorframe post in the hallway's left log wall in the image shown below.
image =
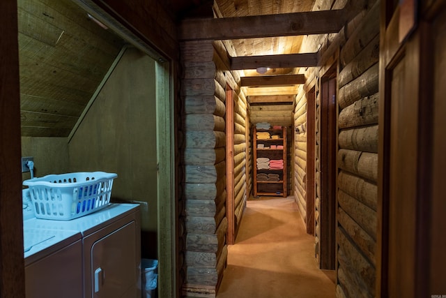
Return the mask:
[[226, 85], [226, 218], [228, 232], [226, 241], [235, 242], [235, 207], [234, 207], [234, 102], [233, 90]]

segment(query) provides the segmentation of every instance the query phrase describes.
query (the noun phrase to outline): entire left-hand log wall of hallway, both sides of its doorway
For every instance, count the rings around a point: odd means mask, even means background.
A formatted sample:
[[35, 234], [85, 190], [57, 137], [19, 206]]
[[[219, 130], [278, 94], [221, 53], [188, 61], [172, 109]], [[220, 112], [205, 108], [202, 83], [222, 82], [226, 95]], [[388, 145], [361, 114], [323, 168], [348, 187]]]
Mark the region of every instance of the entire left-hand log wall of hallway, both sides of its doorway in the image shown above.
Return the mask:
[[[247, 100], [220, 41], [181, 43], [184, 179], [183, 296], [215, 297], [227, 260], [226, 163], [233, 163], [234, 226], [247, 200]], [[233, 161], [226, 161], [226, 85], [233, 90]]]

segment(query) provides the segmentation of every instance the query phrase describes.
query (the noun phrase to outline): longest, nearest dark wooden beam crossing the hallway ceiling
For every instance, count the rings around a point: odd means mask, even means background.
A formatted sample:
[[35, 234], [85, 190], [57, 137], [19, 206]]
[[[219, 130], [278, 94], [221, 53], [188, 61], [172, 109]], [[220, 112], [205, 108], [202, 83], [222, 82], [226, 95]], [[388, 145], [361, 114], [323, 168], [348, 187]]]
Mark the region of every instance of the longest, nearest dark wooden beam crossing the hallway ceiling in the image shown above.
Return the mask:
[[183, 20], [180, 40], [229, 40], [337, 33], [344, 27], [344, 9]]

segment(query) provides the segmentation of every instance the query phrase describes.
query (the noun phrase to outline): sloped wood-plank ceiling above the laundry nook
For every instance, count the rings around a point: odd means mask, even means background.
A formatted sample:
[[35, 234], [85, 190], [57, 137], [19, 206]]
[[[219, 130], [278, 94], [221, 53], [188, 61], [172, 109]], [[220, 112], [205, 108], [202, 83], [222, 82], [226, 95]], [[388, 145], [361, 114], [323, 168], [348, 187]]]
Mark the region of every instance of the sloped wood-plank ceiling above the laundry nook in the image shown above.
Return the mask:
[[125, 45], [70, 0], [18, 0], [22, 136], [66, 137]]

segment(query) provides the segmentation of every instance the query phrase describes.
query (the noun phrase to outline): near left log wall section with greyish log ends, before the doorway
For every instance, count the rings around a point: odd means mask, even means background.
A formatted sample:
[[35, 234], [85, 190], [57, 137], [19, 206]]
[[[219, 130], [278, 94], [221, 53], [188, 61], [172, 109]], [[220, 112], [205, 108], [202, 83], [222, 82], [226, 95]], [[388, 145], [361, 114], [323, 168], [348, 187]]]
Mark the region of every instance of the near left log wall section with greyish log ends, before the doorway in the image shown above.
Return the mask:
[[227, 257], [225, 82], [215, 66], [212, 41], [182, 43], [180, 54], [183, 295], [215, 297]]

